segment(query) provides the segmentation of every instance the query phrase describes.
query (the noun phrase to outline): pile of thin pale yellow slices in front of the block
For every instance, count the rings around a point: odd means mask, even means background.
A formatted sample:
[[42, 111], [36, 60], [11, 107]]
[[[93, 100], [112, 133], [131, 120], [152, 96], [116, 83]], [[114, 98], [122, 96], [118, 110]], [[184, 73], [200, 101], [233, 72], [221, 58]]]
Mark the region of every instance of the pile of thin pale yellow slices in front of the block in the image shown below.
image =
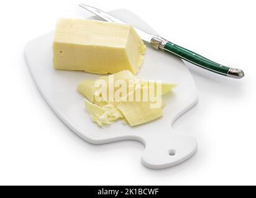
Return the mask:
[[[112, 77], [114, 82], [117, 80], [124, 80], [125, 82], [129, 82], [129, 80], [134, 82], [143, 82], [144, 87], [139, 88], [140, 92], [142, 92], [144, 88], [149, 88], [150, 85], [149, 80], [138, 79], [130, 71], [117, 72], [116, 74], [99, 77], [99, 79], [105, 80], [108, 85], [109, 77]], [[106, 100], [98, 102], [96, 101], [96, 97], [98, 96], [98, 87], [94, 86], [95, 82], [96, 80], [83, 80], [78, 85], [77, 90], [89, 100], [85, 100], [86, 109], [89, 111], [91, 119], [99, 124], [99, 126], [113, 123], [117, 119], [122, 119], [123, 123], [129, 123], [130, 126], [137, 126], [160, 118], [163, 115], [162, 108], [164, 107], [162, 95], [170, 92], [174, 87], [176, 87], [175, 84], [161, 83], [162, 93], [158, 93], [159, 95], [157, 95], [157, 97], [160, 98], [161, 105], [158, 108], [151, 108], [151, 101], [123, 100], [124, 98], [129, 98], [130, 95], [134, 95], [135, 97], [135, 91], [137, 89], [132, 92], [127, 92], [127, 95], [125, 95], [121, 100]], [[158, 83], [160, 82], [155, 82], [153, 86], [157, 88]], [[116, 90], [117, 88], [114, 88], [114, 91]]]

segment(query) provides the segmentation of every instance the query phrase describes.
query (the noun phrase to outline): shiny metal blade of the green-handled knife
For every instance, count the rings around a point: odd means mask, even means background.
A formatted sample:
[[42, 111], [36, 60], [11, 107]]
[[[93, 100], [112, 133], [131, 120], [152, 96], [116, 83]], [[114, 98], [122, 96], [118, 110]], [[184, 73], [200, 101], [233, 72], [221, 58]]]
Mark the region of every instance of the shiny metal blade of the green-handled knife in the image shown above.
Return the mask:
[[[97, 15], [98, 17], [100, 17], [103, 20], [106, 20], [108, 22], [115, 22], [118, 24], [127, 24], [126, 22], [123, 22], [120, 19], [116, 19], [116, 17], [113, 17], [110, 14], [107, 14], [106, 12], [103, 12], [95, 7], [91, 7], [91, 6], [87, 6], [85, 4], [79, 4], [80, 7], [83, 7], [84, 9], [88, 10], [89, 12], [92, 12], [93, 14]], [[143, 30], [140, 30], [137, 27], [134, 27], [134, 29], [136, 30], [136, 32], [140, 35], [140, 38], [142, 38], [142, 40], [144, 40], [147, 43], [150, 43], [150, 41], [153, 38], [153, 35], [151, 35], [150, 33], [147, 33]]]

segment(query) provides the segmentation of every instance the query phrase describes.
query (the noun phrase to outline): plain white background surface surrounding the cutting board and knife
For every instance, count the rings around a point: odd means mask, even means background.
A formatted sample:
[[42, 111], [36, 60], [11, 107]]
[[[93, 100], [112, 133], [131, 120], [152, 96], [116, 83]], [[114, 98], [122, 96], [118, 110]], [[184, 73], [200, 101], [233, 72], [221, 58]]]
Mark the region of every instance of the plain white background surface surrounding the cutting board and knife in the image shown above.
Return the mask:
[[[88, 144], [45, 103], [25, 65], [24, 46], [53, 30], [60, 17], [88, 16], [79, 2], [129, 9], [168, 40], [245, 71], [234, 80], [188, 66], [199, 103], [173, 128], [198, 140], [190, 160], [150, 170], [140, 164], [144, 145]], [[1, 2], [0, 184], [256, 184], [255, 1], [156, 2]]]

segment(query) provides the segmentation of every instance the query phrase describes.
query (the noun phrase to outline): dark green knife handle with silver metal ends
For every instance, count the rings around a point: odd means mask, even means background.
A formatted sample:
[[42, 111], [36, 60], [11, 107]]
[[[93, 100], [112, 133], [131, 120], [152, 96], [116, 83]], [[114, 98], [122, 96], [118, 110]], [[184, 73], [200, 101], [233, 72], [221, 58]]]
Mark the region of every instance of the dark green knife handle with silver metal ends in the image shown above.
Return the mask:
[[154, 36], [150, 41], [150, 45], [152, 45], [155, 49], [163, 49], [168, 51], [176, 56], [179, 56], [181, 59], [185, 59], [196, 66], [202, 67], [217, 74], [226, 75], [227, 77], [232, 77], [235, 79], [244, 77], [244, 72], [241, 69], [222, 66], [217, 62], [211, 61], [199, 54], [194, 53], [193, 51], [175, 45], [162, 37]]

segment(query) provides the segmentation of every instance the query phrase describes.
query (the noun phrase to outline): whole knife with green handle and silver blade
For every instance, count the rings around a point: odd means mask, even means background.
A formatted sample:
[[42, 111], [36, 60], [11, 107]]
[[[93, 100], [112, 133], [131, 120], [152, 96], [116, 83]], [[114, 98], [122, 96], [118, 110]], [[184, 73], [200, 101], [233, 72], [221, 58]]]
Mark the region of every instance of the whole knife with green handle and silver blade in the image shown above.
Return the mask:
[[[116, 17], [113, 17], [112, 15], [107, 14], [106, 12], [103, 12], [95, 7], [87, 6], [85, 4], [79, 4], [79, 6], [108, 22], [126, 24], [122, 20], [116, 19]], [[223, 66], [217, 62], [204, 58], [203, 56], [194, 53], [193, 51], [171, 43], [170, 41], [160, 37], [159, 35], [151, 35], [150, 33], [144, 32], [137, 27], [134, 27], [134, 29], [140, 35], [140, 38], [142, 38], [142, 40], [144, 40], [146, 43], [149, 43], [155, 49], [162, 49], [163, 51], [167, 51], [168, 53], [175, 54], [181, 59], [184, 59], [188, 62], [195, 64], [196, 66], [202, 67], [216, 74], [225, 75], [227, 77], [232, 77], [235, 79], [240, 79], [244, 77], [244, 72], [241, 69], [234, 69], [232, 67]]]

